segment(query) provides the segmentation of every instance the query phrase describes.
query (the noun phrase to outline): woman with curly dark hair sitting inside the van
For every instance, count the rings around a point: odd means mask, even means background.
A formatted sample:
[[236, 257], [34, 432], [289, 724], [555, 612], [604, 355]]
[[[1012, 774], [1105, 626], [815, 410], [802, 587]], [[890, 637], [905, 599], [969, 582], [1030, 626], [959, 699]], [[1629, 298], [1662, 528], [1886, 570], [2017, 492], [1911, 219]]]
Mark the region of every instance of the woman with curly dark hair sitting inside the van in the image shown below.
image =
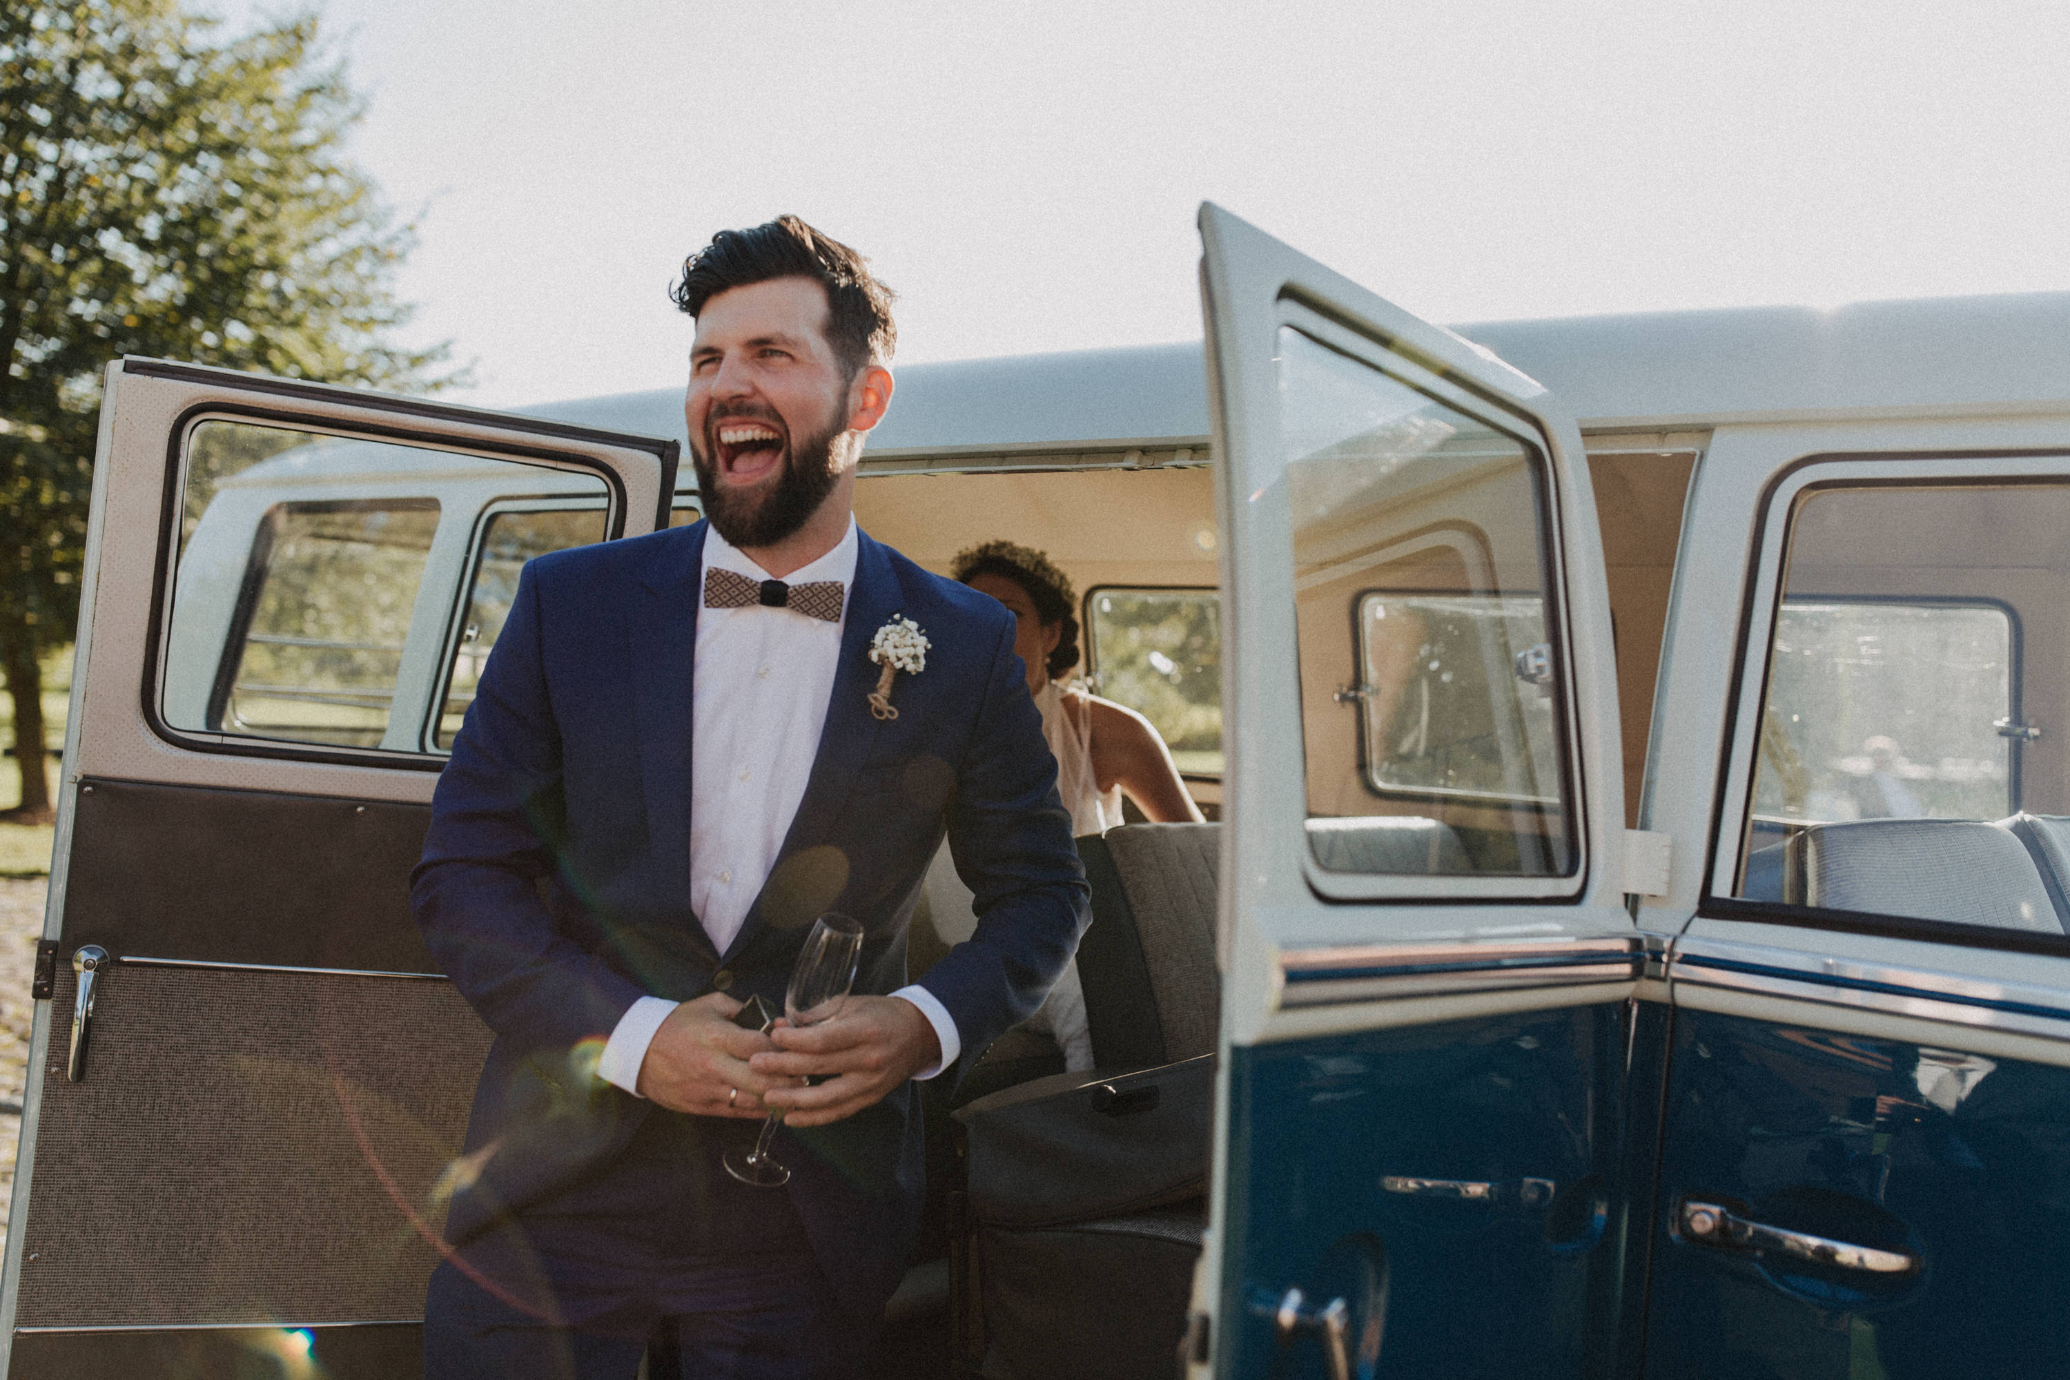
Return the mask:
[[1122, 794], [1153, 823], [1201, 819], [1172, 751], [1147, 718], [1064, 685], [1064, 672], [1078, 664], [1078, 604], [1049, 557], [1014, 542], [985, 542], [958, 552], [950, 575], [1014, 614], [1014, 652], [1027, 664], [1029, 693], [1056, 753], [1056, 786], [1072, 834], [1118, 826]]

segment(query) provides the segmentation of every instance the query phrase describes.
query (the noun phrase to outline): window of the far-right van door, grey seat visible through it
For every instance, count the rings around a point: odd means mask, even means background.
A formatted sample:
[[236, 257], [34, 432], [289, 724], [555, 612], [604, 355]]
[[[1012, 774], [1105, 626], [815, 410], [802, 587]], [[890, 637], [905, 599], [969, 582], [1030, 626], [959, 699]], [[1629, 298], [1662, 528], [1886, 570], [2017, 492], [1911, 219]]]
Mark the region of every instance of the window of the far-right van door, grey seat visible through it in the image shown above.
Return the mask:
[[2064, 935], [2070, 484], [1815, 484], [1788, 521], [1735, 896]]

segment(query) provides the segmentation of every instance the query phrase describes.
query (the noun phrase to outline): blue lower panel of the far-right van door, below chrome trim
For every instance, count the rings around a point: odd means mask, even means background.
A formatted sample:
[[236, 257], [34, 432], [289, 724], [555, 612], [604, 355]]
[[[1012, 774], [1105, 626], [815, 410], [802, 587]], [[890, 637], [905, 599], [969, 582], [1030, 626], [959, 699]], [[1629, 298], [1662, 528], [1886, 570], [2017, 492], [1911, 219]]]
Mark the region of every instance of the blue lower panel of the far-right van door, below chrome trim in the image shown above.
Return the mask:
[[[1673, 1070], [1648, 1374], [2029, 1376], [2070, 1353], [2070, 1068], [1681, 1012]], [[1706, 1246], [1687, 1200], [1919, 1266]]]

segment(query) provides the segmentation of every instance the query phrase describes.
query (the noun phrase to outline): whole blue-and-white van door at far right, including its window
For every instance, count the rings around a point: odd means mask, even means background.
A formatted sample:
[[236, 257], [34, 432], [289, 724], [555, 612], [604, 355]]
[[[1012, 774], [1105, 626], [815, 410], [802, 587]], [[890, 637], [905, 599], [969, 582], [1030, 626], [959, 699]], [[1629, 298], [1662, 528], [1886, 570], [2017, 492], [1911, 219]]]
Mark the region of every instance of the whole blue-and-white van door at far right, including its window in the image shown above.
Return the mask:
[[[1646, 1374], [2064, 1374], [2070, 910], [2033, 811], [2066, 774], [2020, 728], [2060, 683], [2070, 418], [1726, 428], [1704, 463], [1648, 801], [1708, 794], [1712, 859]], [[1737, 641], [1702, 588], [1735, 563]]]

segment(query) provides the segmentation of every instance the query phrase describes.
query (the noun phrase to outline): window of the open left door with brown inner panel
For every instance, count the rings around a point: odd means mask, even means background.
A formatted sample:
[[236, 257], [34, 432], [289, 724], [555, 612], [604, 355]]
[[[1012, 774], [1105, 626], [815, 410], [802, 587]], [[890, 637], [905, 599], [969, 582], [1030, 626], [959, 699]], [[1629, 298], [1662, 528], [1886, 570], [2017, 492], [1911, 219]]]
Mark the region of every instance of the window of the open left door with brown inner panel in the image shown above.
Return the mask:
[[424, 751], [480, 515], [609, 517], [588, 468], [230, 418], [186, 432], [180, 482], [164, 726], [277, 745]]

